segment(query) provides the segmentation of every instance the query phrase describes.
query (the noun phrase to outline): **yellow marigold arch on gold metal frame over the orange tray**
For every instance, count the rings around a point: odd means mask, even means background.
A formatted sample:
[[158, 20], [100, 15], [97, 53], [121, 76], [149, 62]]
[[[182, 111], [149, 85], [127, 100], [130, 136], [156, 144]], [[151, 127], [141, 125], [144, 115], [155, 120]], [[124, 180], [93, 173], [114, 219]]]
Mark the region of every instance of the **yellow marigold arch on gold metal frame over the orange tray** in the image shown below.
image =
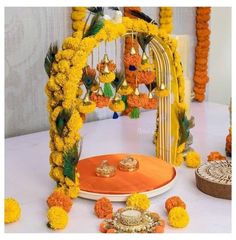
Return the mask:
[[[176, 40], [156, 25], [127, 17], [120, 24], [105, 21], [104, 27], [96, 35], [84, 39], [81, 38], [81, 32], [75, 32], [64, 40], [62, 50], [56, 54], [45, 88], [50, 121], [50, 176], [57, 182], [57, 190], [71, 198], [79, 195], [79, 174], [75, 173], [75, 163], [79, 129], [83, 125], [78, 108], [81, 102], [78, 86], [82, 69], [92, 50], [101, 42], [113, 41], [130, 32], [154, 36], [151, 48], [157, 65], [158, 86], [164, 83], [170, 91], [168, 97], [160, 97], [159, 101], [156, 152], [158, 157], [169, 162], [176, 158], [179, 138], [176, 111], [184, 104], [184, 78]], [[65, 116], [62, 129], [58, 129], [58, 116]]]

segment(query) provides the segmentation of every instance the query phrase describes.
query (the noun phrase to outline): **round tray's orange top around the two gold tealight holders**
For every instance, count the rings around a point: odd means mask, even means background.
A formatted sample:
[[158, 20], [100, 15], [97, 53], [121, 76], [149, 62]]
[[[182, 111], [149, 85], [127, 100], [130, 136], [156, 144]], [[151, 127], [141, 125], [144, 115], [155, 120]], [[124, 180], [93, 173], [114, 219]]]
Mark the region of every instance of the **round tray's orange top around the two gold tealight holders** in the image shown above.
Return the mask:
[[140, 154], [128, 154], [139, 161], [139, 169], [135, 172], [123, 172], [117, 169], [111, 178], [97, 177], [96, 167], [102, 160], [118, 166], [127, 154], [109, 154], [80, 160], [77, 171], [80, 173], [80, 189], [86, 192], [103, 194], [130, 194], [146, 192], [165, 186], [176, 176], [175, 168], [155, 157]]

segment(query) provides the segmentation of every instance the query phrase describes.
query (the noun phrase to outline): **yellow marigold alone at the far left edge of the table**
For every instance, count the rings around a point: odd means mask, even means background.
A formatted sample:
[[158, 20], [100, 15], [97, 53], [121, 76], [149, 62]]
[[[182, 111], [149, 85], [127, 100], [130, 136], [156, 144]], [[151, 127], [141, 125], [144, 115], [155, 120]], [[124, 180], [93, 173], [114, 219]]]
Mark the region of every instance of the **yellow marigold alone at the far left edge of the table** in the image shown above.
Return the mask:
[[4, 212], [5, 223], [13, 223], [18, 221], [21, 216], [19, 203], [13, 198], [5, 198]]

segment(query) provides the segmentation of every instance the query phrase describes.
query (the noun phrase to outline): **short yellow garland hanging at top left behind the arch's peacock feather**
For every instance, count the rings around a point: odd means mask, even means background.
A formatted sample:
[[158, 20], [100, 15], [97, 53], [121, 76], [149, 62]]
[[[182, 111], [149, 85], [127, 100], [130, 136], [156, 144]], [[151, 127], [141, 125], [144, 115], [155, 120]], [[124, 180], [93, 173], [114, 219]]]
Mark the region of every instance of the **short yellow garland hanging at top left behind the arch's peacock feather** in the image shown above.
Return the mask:
[[86, 17], [85, 7], [72, 7], [71, 20], [74, 31], [82, 31], [84, 29], [84, 19]]

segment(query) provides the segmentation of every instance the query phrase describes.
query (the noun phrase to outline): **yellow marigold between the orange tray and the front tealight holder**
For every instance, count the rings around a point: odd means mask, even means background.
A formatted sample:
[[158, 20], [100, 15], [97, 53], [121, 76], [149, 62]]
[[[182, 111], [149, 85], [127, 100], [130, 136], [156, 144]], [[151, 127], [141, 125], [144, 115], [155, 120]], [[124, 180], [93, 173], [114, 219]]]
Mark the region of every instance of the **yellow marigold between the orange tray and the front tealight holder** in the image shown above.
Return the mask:
[[146, 194], [134, 193], [126, 201], [128, 207], [136, 207], [141, 210], [147, 210], [150, 207], [150, 200]]

